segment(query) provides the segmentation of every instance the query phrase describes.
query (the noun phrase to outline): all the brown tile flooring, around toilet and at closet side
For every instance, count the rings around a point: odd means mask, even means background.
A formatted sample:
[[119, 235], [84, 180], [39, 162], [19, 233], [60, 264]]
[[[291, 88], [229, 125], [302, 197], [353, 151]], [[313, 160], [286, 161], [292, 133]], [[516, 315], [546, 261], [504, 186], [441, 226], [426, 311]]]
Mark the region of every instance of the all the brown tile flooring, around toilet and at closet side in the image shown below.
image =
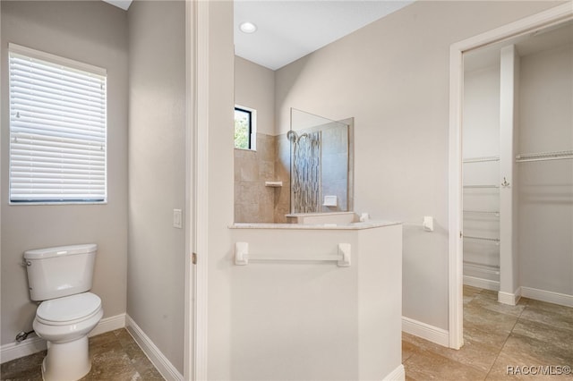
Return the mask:
[[[508, 306], [498, 303], [497, 292], [465, 286], [464, 341], [464, 347], [454, 351], [403, 334], [406, 380], [573, 380], [573, 375], [515, 376], [507, 372], [508, 366], [573, 366], [571, 308], [525, 298], [517, 306]], [[44, 354], [2, 364], [0, 378], [41, 380]], [[163, 380], [125, 329], [91, 337], [90, 354], [92, 368], [82, 381]]]

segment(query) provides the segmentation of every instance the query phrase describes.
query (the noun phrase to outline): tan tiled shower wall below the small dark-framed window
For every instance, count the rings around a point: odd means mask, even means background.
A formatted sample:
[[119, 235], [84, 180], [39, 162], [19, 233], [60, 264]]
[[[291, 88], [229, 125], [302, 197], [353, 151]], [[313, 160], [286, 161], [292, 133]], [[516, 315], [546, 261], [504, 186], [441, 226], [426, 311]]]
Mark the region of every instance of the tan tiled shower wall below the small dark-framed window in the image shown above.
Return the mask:
[[[286, 223], [290, 151], [286, 136], [257, 133], [255, 150], [235, 148], [235, 223]], [[283, 182], [267, 187], [265, 182]]]

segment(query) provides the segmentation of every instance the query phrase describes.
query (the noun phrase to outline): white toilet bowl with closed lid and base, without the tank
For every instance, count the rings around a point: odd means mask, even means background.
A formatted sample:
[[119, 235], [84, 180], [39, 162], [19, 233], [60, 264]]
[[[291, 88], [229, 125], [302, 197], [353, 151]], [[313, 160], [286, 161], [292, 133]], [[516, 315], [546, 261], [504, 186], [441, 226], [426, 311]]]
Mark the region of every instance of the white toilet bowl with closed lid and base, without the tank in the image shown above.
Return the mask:
[[45, 381], [78, 380], [90, 372], [88, 334], [103, 314], [101, 300], [91, 292], [43, 301], [38, 306], [33, 327], [47, 340], [42, 363]]

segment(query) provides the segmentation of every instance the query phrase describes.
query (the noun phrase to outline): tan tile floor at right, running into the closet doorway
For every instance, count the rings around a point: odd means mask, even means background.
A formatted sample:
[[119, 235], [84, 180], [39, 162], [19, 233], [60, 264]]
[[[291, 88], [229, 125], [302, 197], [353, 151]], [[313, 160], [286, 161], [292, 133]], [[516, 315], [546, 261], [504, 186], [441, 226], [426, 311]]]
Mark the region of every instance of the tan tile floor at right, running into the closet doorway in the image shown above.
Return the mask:
[[[500, 304], [497, 292], [464, 286], [464, 343], [459, 351], [402, 335], [406, 380], [572, 380], [573, 309], [522, 298]], [[544, 368], [552, 376], [525, 374]], [[523, 374], [508, 374], [514, 367]], [[570, 368], [569, 368], [570, 369]]]

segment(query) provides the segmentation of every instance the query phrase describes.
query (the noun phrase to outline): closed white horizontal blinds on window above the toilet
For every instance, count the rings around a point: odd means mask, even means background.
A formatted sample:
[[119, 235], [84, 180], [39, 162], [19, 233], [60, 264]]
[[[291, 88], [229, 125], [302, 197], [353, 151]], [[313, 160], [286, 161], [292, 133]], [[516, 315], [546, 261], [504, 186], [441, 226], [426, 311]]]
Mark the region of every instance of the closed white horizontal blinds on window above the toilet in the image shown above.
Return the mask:
[[9, 50], [10, 201], [105, 202], [106, 71]]

